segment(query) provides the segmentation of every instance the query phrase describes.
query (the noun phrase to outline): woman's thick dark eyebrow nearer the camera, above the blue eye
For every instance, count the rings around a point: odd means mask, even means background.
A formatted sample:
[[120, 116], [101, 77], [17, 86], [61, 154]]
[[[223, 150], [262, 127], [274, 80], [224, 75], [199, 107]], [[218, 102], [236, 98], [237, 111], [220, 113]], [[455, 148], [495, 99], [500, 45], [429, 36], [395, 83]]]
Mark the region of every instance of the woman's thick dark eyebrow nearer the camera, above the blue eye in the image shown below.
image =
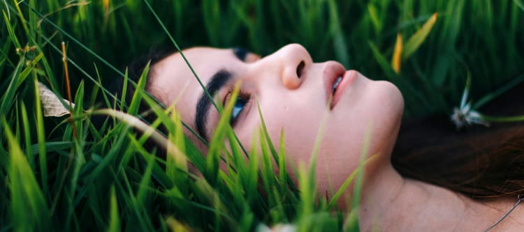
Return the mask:
[[[210, 95], [214, 95], [219, 91], [228, 81], [231, 79], [231, 72], [227, 70], [219, 70], [218, 72], [212, 75], [210, 82], [205, 88], [208, 90]], [[196, 103], [196, 114], [195, 114], [195, 125], [196, 131], [201, 135], [206, 141], [208, 141], [208, 136], [205, 132], [205, 129], [208, 124], [208, 114], [210, 110], [211, 99], [205, 94], [205, 91], [201, 94], [198, 102]]]

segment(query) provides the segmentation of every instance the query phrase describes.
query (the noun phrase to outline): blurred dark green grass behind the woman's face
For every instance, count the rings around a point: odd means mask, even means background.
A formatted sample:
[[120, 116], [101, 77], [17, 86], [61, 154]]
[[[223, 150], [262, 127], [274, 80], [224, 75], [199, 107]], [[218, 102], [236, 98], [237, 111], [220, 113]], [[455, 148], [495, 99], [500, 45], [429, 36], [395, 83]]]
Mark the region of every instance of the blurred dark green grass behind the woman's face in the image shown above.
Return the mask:
[[[268, 54], [289, 42], [299, 42], [315, 61], [335, 59], [347, 68], [357, 69], [372, 79], [390, 79], [400, 86], [407, 100], [407, 116], [424, 116], [449, 112], [460, 100], [467, 70], [473, 78], [472, 97], [483, 95], [523, 72], [523, 10], [521, 1], [155, 1], [152, 8], [181, 47], [210, 45], [242, 46], [253, 52]], [[152, 45], [170, 44], [157, 20], [143, 1], [73, 1], [59, 3], [46, 0], [20, 3], [28, 38], [21, 45], [42, 45], [52, 70], [57, 70], [57, 52], [46, 39], [64, 40], [70, 59], [89, 75], [99, 68], [103, 84], [119, 77], [95, 56], [86, 56], [85, 45], [109, 64], [122, 69], [125, 63], [145, 53]], [[10, 6], [6, 9], [5, 5]], [[3, 10], [10, 21], [18, 22], [17, 10], [6, 1]], [[405, 43], [421, 29], [431, 15], [438, 13], [420, 47], [405, 46], [410, 54], [393, 75], [380, 64], [374, 48], [391, 61], [397, 35]], [[57, 26], [52, 26], [49, 22]], [[15, 23], [16, 24], [16, 23]], [[2, 24], [4, 56], [13, 57], [11, 41]], [[26, 27], [20, 23], [16, 33]], [[66, 36], [68, 33], [73, 38]], [[37, 36], [38, 34], [38, 36]], [[20, 37], [20, 36], [19, 36]], [[406, 44], [407, 45], [407, 44]], [[413, 52], [411, 54], [411, 52]], [[2, 70], [13, 68], [11, 59], [3, 59]], [[4, 64], [5, 63], [5, 64]], [[389, 66], [391, 68], [391, 64]], [[4, 76], [12, 69], [3, 71]], [[82, 73], [71, 70], [78, 85]], [[60, 90], [63, 82], [57, 82]], [[87, 89], [92, 83], [86, 82]]]

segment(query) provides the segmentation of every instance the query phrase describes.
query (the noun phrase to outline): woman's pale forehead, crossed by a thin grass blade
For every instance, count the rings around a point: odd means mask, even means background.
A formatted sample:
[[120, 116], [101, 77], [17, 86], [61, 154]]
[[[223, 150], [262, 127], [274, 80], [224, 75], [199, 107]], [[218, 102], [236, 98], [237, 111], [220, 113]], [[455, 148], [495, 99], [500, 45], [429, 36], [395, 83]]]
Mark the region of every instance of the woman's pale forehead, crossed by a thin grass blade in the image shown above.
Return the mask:
[[[203, 86], [218, 70], [234, 69], [238, 59], [231, 49], [194, 47], [182, 51]], [[182, 121], [194, 126], [196, 102], [203, 93], [191, 69], [180, 53], [172, 54], [152, 68], [148, 91], [166, 106], [173, 105], [180, 112]]]

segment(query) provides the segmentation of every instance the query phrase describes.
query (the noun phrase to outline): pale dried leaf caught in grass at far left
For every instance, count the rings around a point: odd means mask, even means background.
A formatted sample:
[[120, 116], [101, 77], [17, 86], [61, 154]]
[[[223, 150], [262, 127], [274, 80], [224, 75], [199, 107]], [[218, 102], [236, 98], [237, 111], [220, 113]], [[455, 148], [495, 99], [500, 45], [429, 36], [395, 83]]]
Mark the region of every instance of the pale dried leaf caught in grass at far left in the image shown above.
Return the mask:
[[[40, 93], [40, 100], [42, 101], [43, 114], [45, 117], [61, 117], [70, 114], [68, 109], [62, 105], [57, 95], [51, 91], [48, 86], [38, 82], [38, 93]], [[69, 104], [68, 100], [64, 101]], [[71, 104], [75, 107], [75, 104]]]

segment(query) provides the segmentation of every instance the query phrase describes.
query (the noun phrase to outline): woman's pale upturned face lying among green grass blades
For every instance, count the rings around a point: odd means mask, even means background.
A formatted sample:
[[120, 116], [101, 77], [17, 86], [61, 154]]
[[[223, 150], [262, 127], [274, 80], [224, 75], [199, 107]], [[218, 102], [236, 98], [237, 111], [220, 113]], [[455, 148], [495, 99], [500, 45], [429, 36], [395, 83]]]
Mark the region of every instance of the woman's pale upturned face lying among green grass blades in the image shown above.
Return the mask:
[[[296, 44], [263, 58], [242, 50], [209, 47], [183, 53], [215, 102], [225, 104], [235, 84], [240, 83], [232, 125], [247, 148], [261, 125], [256, 102], [275, 144], [284, 132], [286, 156], [292, 163], [289, 167], [300, 162], [309, 165], [319, 128], [324, 126], [316, 159], [321, 192], [330, 186], [337, 190], [354, 171], [366, 132], [370, 132], [368, 154], [388, 157], [391, 153], [403, 100], [389, 82], [374, 82], [335, 61], [313, 63], [305, 48]], [[342, 79], [333, 92], [339, 77]], [[165, 105], [175, 103], [182, 121], [201, 136], [212, 137], [219, 114], [180, 54], [154, 65], [147, 90]]]

